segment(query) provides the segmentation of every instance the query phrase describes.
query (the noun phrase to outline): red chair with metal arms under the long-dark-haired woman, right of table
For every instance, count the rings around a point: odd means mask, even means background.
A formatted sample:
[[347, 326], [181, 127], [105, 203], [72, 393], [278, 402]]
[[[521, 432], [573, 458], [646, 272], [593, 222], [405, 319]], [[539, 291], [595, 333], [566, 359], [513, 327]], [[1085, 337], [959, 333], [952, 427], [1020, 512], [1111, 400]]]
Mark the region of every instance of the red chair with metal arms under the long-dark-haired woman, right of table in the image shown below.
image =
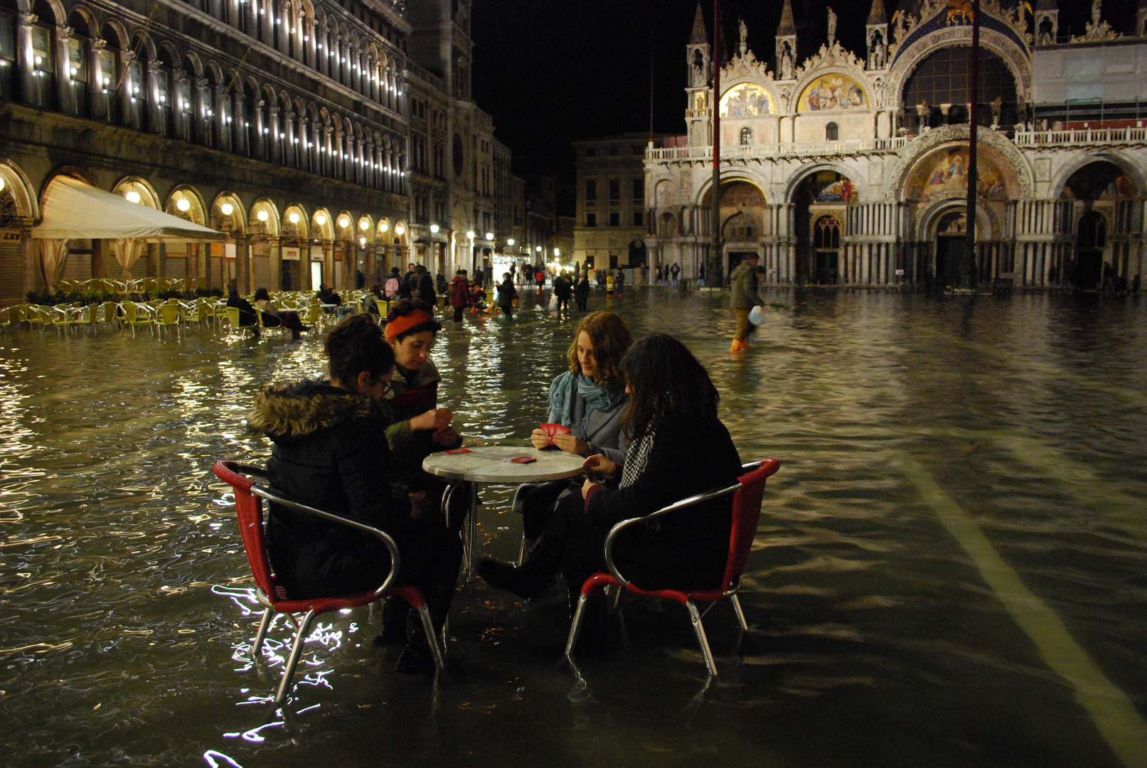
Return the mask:
[[[709, 641], [705, 638], [705, 628], [701, 624], [701, 614], [697, 612], [696, 602], [717, 603], [727, 597], [733, 603], [733, 610], [736, 611], [736, 620], [741, 625], [741, 629], [749, 628], [749, 625], [744, 621], [744, 613], [741, 611], [741, 602], [736, 598], [736, 593], [741, 588], [741, 572], [744, 571], [744, 564], [749, 559], [749, 550], [752, 548], [752, 538], [757, 532], [757, 519], [760, 517], [760, 500], [765, 493], [765, 480], [775, 473], [780, 469], [780, 462], [775, 459], [750, 462], [742, 467], [742, 469], [750, 471], [739, 477], [735, 485], [731, 485], [727, 488], [705, 491], [704, 493], [699, 493], [695, 496], [682, 499], [669, 507], [658, 509], [656, 512], [646, 515], [645, 517], [630, 518], [615, 525], [609, 531], [609, 535], [606, 536], [606, 567], [609, 569], [609, 573], [599, 571], [582, 585], [582, 595], [578, 597], [577, 610], [574, 613], [574, 625], [570, 627], [569, 640], [565, 642], [565, 658], [570, 663], [570, 666], [575, 669], [577, 668], [574, 661], [574, 646], [577, 644], [577, 634], [580, 628], [583, 609], [586, 601], [590, 599], [595, 589], [604, 589], [612, 585], [624, 587], [627, 591], [637, 595], [676, 599], [688, 609], [689, 619], [693, 621], [693, 630], [697, 635], [697, 644], [701, 645], [701, 652], [705, 657], [705, 666], [709, 667], [709, 674], [717, 676], [717, 665], [713, 663], [712, 651], [709, 650]], [[733, 494], [733, 530], [729, 536], [728, 559], [725, 562], [725, 575], [721, 577], [719, 585], [711, 589], [648, 590], [633, 585], [633, 582], [629, 581], [617, 571], [617, 566], [614, 564], [614, 542], [617, 540], [617, 535], [626, 527], [728, 494]]]

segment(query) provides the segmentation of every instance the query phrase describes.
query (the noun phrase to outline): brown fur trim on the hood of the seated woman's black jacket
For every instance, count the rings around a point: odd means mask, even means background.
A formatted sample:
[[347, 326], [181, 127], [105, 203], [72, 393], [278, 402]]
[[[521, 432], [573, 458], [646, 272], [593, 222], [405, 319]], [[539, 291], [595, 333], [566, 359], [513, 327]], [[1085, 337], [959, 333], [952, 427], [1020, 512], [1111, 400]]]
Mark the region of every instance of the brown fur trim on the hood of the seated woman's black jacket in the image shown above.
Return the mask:
[[322, 382], [272, 384], [255, 399], [247, 430], [275, 442], [306, 437], [348, 420], [370, 416], [369, 398]]

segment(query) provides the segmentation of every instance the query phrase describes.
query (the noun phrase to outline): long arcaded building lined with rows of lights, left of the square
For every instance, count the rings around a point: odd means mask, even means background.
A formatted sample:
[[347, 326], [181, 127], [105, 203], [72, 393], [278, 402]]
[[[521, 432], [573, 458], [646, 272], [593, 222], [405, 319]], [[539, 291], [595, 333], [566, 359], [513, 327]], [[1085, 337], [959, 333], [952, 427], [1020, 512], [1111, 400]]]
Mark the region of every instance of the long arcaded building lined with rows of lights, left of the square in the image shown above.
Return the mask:
[[[309, 289], [467, 266], [446, 245], [493, 228], [468, 15], [468, 0], [0, 0], [0, 300], [64, 277]], [[69, 241], [48, 267], [29, 233], [61, 173], [227, 242], [133, 260]]]

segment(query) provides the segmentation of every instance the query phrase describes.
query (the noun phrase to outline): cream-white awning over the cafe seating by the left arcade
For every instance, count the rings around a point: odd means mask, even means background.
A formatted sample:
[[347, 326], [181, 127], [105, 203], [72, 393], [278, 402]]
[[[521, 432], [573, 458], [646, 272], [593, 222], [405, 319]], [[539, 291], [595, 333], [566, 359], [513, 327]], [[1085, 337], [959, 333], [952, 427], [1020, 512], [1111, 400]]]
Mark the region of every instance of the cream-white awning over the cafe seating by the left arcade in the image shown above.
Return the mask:
[[225, 240], [221, 232], [132, 203], [71, 177], [56, 177], [44, 190], [44, 221], [32, 229], [40, 240]]

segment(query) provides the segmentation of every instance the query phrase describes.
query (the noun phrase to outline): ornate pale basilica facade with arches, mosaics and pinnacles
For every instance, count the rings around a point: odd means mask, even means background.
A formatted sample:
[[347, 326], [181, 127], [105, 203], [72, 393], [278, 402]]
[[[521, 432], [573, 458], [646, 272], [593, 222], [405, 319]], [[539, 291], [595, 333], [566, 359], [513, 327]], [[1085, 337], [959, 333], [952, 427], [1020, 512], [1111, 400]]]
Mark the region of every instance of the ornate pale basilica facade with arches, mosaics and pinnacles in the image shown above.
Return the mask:
[[1071, 37], [1056, 0], [983, 0], [974, 254], [963, 246], [970, 5], [902, 0], [889, 18], [873, 0], [863, 55], [835, 39], [826, 8], [827, 38], [801, 61], [786, 0], [767, 56], [740, 24], [736, 49], [716, 63], [717, 99], [699, 6], [686, 133], [646, 150], [650, 261], [727, 275], [756, 253], [772, 284], [1094, 288], [1141, 274], [1147, 2], [1134, 29], [1116, 30], [1094, 0]]

